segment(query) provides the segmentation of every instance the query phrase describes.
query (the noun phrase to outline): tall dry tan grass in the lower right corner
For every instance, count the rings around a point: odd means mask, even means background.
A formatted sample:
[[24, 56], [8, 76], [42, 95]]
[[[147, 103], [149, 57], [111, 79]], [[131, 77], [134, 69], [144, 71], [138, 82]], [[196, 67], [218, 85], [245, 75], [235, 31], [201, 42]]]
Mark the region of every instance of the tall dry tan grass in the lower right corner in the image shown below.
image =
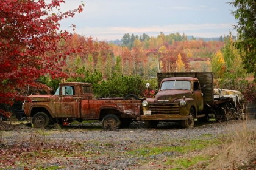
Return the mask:
[[256, 169], [256, 129], [252, 123], [255, 121], [243, 120], [227, 127], [232, 133], [219, 135], [221, 144], [208, 152], [215, 160], [205, 169]]

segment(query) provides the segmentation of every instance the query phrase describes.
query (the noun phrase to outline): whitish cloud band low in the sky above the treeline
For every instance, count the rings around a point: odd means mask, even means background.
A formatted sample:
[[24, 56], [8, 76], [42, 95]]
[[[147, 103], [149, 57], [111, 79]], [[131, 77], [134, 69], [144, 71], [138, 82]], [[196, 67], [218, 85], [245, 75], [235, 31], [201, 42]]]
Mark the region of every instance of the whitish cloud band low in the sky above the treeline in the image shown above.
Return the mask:
[[176, 24], [151, 26], [151, 27], [83, 27], [77, 28], [76, 33], [84, 36], [92, 36], [99, 40], [115, 40], [121, 39], [125, 33], [134, 33], [135, 35], [141, 35], [143, 33], [149, 33], [150, 36], [159, 35], [160, 32], [168, 33], [185, 33], [186, 35], [200, 36], [200, 37], [218, 37], [229, 33], [232, 29], [232, 23], [229, 24]]

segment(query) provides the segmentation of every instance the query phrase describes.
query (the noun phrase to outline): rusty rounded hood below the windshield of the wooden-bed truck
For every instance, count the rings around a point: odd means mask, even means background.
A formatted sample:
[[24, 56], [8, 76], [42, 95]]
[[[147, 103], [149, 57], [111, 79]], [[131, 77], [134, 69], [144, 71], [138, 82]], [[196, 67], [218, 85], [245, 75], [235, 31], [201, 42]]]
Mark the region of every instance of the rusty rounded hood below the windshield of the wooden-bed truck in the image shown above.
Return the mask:
[[177, 98], [183, 98], [185, 96], [186, 98], [191, 97], [191, 91], [190, 90], [162, 90], [155, 95], [154, 102], [173, 102]]

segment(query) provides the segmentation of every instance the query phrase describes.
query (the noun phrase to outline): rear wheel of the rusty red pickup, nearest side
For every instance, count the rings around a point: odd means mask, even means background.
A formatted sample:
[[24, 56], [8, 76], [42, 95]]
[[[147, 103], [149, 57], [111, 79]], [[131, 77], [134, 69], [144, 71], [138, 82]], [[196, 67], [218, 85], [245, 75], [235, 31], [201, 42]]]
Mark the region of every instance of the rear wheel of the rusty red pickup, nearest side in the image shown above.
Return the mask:
[[118, 129], [120, 127], [120, 119], [113, 114], [106, 115], [102, 120], [102, 126], [104, 129]]

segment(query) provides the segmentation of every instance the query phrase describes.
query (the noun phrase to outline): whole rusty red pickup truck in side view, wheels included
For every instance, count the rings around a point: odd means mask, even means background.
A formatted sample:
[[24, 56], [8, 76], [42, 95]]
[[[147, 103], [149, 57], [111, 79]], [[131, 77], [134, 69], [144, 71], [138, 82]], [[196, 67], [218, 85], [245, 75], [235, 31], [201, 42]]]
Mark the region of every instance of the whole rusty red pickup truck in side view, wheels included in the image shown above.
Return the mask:
[[34, 127], [46, 127], [52, 121], [63, 124], [63, 121], [100, 120], [104, 128], [119, 128], [129, 127], [133, 119], [140, 117], [141, 100], [93, 98], [90, 83], [60, 83], [54, 95], [27, 96], [23, 110], [27, 117], [32, 117]]

